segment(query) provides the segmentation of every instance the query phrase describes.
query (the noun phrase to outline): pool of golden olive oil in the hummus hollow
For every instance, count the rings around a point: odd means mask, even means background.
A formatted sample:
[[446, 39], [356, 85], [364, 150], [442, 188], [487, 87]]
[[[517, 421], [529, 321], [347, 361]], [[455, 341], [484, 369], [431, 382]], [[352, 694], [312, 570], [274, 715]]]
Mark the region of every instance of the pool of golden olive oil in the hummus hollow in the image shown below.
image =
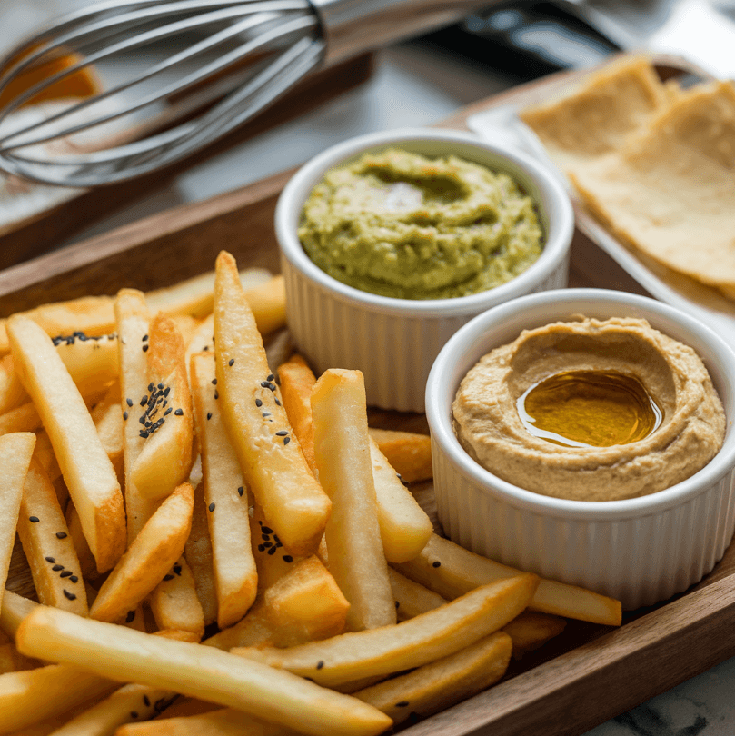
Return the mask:
[[529, 387], [516, 406], [534, 437], [567, 447], [639, 442], [663, 421], [641, 381], [612, 371], [555, 373]]

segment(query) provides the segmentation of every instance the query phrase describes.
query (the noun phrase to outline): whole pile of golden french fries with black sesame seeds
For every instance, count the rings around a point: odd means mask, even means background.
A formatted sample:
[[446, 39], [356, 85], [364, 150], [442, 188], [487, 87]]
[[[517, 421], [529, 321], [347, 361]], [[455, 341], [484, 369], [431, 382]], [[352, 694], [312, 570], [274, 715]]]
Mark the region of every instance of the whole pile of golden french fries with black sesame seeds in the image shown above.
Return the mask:
[[223, 252], [0, 322], [0, 733], [370, 736], [621, 622], [435, 534], [428, 438], [369, 430], [357, 371], [269, 364], [284, 314]]

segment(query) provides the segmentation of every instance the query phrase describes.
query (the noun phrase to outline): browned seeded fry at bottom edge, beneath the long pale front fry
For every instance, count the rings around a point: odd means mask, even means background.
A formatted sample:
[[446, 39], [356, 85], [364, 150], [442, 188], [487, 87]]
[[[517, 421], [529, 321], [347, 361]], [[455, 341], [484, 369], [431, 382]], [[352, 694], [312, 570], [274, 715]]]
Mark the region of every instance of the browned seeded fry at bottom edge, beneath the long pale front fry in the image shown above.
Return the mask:
[[[124, 685], [67, 721], [54, 736], [107, 736], [130, 721], [147, 721], [164, 710], [171, 692], [145, 685]], [[174, 696], [175, 697], [175, 696]]]

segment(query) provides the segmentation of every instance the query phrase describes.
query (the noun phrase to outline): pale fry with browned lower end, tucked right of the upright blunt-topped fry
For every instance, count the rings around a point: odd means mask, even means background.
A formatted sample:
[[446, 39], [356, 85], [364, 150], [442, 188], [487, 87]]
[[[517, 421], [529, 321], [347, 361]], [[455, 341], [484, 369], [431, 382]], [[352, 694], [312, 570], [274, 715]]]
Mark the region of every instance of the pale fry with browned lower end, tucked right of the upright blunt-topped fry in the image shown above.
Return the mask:
[[432, 520], [399, 480], [372, 438], [370, 460], [385, 559], [388, 562], [412, 560], [432, 536]]

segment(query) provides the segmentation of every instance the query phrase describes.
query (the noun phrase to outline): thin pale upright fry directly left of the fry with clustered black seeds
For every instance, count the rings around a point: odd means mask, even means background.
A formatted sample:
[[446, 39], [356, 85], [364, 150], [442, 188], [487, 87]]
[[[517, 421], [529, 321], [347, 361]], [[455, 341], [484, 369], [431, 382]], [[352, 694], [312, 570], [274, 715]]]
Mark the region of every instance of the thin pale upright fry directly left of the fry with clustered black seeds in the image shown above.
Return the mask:
[[[138, 491], [131, 480], [131, 469], [141, 453], [144, 438], [137, 416], [148, 400], [148, 362], [145, 343], [148, 342], [150, 315], [143, 292], [122, 289], [114, 302], [119, 339], [120, 393], [123, 410], [123, 458], [125, 471], [125, 511], [127, 512], [127, 543], [133, 542], [151, 518], [158, 505]], [[145, 401], [141, 397], [145, 397]], [[128, 401], [130, 399], [130, 401]], [[130, 404], [133, 404], [131, 407]], [[71, 524], [70, 524], [71, 526]]]

